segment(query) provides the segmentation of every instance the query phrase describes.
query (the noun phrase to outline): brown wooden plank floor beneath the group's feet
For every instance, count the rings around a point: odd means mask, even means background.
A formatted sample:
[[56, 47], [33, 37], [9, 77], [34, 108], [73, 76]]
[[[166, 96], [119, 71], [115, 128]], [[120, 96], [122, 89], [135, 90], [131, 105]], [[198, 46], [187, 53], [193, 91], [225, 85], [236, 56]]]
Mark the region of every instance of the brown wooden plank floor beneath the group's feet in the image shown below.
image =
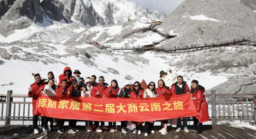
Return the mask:
[[[67, 128], [67, 127], [66, 127]], [[57, 129], [48, 135], [44, 132], [34, 134], [32, 126], [0, 126], [0, 139], [256, 139], [256, 130], [250, 128], [235, 128], [231, 126], [209, 126], [204, 125], [204, 131], [201, 135], [195, 134], [195, 131], [185, 133], [184, 130], [176, 132], [175, 128], [168, 127], [168, 134], [161, 135], [158, 130], [160, 126], [155, 126], [155, 133], [149, 136], [134, 134], [131, 131], [122, 133], [120, 131], [111, 133], [103, 131], [102, 133], [87, 132], [84, 126], [78, 126], [80, 130], [76, 134], [58, 133]], [[118, 127], [120, 130], [120, 128]]]

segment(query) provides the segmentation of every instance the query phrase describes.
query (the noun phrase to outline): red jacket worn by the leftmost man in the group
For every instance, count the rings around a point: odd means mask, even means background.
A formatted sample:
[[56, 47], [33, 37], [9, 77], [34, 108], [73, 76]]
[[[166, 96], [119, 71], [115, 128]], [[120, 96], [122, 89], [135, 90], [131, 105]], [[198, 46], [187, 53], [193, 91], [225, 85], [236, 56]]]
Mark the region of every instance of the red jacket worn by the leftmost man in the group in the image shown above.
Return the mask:
[[38, 89], [43, 85], [45, 85], [45, 82], [42, 82], [42, 84], [40, 86], [38, 86], [37, 82], [30, 85], [30, 87], [32, 88], [32, 93], [31, 94], [28, 93], [28, 96], [32, 97], [33, 116], [38, 115], [38, 112], [36, 110], [36, 103], [37, 103], [37, 100], [38, 100]]

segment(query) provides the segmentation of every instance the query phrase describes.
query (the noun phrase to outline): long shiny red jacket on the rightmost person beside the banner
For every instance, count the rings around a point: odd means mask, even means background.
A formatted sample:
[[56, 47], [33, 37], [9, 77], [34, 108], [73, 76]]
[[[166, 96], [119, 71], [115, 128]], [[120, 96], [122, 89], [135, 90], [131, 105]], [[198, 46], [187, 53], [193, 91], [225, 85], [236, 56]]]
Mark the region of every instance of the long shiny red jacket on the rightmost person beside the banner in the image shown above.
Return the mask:
[[209, 121], [208, 105], [204, 96], [204, 87], [198, 85], [197, 88], [193, 89], [191, 87], [191, 93], [193, 94], [193, 99], [196, 111], [199, 113], [199, 122]]

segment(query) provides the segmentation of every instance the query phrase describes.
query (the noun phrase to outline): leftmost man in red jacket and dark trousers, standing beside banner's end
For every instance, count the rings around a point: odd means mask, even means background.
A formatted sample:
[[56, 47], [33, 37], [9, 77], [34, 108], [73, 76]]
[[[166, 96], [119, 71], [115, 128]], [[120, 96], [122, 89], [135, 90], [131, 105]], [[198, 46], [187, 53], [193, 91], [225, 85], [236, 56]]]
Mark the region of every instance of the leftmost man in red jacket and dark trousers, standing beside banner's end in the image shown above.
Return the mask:
[[38, 89], [45, 85], [45, 82], [41, 80], [40, 74], [34, 75], [35, 83], [30, 85], [28, 96], [32, 97], [32, 105], [33, 105], [33, 126], [34, 126], [34, 133], [39, 133], [38, 131], [38, 112], [36, 110], [36, 103], [38, 100]]

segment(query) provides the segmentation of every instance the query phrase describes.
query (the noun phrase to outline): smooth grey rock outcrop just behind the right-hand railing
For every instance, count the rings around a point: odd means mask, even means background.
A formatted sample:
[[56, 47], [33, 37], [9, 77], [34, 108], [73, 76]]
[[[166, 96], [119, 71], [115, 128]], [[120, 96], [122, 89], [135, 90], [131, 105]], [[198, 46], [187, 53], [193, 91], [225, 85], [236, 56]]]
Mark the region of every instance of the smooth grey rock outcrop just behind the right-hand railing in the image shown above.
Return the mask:
[[[256, 76], [234, 77], [210, 90], [215, 90], [216, 94], [254, 94], [256, 92]], [[207, 90], [207, 93], [210, 90]]]

